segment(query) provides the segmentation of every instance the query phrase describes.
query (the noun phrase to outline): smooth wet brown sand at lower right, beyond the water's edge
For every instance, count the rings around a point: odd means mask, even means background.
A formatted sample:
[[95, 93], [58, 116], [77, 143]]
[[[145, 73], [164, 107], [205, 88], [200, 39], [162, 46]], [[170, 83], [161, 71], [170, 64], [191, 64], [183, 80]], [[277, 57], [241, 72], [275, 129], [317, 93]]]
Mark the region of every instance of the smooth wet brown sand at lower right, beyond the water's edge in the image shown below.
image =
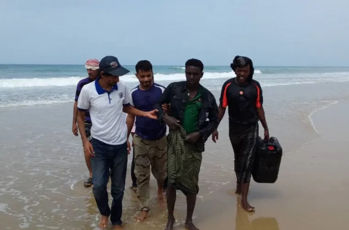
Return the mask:
[[[254, 214], [237, 207], [234, 183], [199, 203], [198, 227], [235, 230], [348, 229], [349, 102], [313, 115], [320, 137], [282, 159], [275, 184], [250, 187]], [[215, 207], [208, 208], [208, 207]]]

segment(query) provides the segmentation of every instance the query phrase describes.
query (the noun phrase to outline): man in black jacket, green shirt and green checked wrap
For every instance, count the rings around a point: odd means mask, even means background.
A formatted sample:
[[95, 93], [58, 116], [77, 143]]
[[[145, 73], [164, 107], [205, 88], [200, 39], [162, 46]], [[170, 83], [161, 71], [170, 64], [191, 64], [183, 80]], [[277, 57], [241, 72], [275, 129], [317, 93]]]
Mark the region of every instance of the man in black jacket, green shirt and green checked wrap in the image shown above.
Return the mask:
[[[200, 85], [203, 76], [203, 64], [198, 59], [189, 59], [185, 63], [186, 81], [173, 82], [166, 87], [154, 108], [158, 110], [159, 121], [165, 122], [168, 135], [168, 222], [165, 230], [172, 230], [174, 224], [174, 204], [176, 189], [187, 197], [186, 228], [198, 230], [192, 216], [196, 195], [199, 192], [198, 180], [205, 150], [205, 142], [218, 125], [218, 106], [213, 94]], [[162, 106], [170, 104], [166, 114]], [[208, 119], [208, 121], [207, 121]], [[185, 170], [183, 170], [185, 168]]]

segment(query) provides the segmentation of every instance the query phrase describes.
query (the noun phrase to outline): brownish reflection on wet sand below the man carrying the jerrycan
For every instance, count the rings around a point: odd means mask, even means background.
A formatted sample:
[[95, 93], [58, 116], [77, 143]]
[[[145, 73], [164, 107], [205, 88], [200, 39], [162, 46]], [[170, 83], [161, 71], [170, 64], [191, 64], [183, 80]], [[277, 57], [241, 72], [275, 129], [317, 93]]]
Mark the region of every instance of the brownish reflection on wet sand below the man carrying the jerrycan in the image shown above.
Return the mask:
[[[240, 207], [241, 197], [236, 198], [235, 230], [279, 230], [279, 224], [274, 217], [252, 218], [249, 213]], [[250, 220], [252, 219], [252, 220]]]

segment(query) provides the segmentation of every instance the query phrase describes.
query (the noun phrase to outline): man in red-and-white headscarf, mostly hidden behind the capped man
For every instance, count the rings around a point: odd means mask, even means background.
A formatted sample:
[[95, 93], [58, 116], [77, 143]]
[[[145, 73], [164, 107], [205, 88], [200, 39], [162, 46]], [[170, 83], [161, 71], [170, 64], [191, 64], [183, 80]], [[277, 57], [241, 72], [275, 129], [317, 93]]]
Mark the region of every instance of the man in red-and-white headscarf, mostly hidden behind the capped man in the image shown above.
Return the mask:
[[[72, 132], [75, 136], [79, 136], [77, 131], [77, 99], [79, 99], [79, 95], [81, 92], [81, 89], [84, 85], [89, 84], [90, 82], [96, 80], [96, 78], [99, 76], [99, 61], [96, 59], [89, 59], [85, 63], [85, 68], [87, 69], [88, 77], [80, 80], [77, 83], [76, 86], [76, 93], [75, 93], [75, 103], [74, 103], [74, 109], [73, 109], [73, 127]], [[91, 117], [89, 112], [87, 111], [85, 113], [85, 132], [88, 140], [91, 140], [90, 136], [90, 130], [92, 127]], [[84, 154], [85, 155], [85, 154]], [[86, 165], [89, 171], [89, 178], [87, 181], [85, 181], [84, 186], [90, 187], [92, 185], [92, 167], [91, 167], [91, 158], [85, 156]]]

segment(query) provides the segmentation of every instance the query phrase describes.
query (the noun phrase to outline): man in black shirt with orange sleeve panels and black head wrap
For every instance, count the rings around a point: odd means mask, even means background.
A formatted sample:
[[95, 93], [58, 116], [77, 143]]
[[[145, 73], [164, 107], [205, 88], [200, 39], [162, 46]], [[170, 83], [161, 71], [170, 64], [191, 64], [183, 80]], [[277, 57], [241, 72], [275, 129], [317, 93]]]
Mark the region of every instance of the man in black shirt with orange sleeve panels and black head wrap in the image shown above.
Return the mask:
[[[218, 107], [218, 118], [222, 120], [225, 109], [229, 114], [229, 138], [234, 151], [234, 171], [236, 173], [236, 194], [242, 195], [240, 206], [246, 211], [254, 211], [247, 202], [254, 154], [257, 149], [258, 121], [264, 128], [264, 138], [269, 139], [268, 125], [263, 109], [262, 88], [253, 80], [253, 63], [250, 58], [236, 56], [231, 69], [236, 77], [224, 82]], [[216, 142], [218, 132], [212, 133]]]

